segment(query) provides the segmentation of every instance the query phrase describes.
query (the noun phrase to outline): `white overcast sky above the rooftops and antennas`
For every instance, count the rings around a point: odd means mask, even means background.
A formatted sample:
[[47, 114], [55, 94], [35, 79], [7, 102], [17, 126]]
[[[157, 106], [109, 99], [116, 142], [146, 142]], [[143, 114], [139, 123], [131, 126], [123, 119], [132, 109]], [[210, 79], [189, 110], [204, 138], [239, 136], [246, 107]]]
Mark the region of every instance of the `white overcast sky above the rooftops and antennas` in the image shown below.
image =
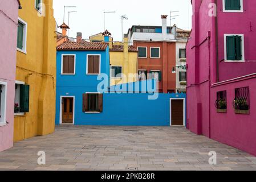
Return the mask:
[[[168, 14], [168, 26], [170, 24], [170, 11], [179, 11], [173, 15], [172, 25], [179, 28], [191, 29], [192, 5], [190, 0], [54, 0], [54, 17], [60, 26], [63, 23], [64, 6], [76, 6], [66, 8], [65, 23], [68, 24], [68, 11], [70, 13], [70, 37], [76, 37], [76, 32], [83, 33], [83, 39], [90, 35], [103, 32], [104, 11], [116, 11], [105, 14], [105, 29], [112, 33], [114, 41], [121, 40], [121, 15], [126, 15], [123, 34], [128, 32], [132, 25], [161, 26], [161, 14]], [[61, 32], [61, 30], [58, 30]]]

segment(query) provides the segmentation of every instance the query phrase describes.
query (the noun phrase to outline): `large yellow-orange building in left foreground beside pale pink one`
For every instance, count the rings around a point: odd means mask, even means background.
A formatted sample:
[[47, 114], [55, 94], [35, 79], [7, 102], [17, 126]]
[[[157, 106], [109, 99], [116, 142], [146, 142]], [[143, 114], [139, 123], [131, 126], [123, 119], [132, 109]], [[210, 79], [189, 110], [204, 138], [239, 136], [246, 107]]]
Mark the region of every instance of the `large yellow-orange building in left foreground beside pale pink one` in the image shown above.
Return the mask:
[[21, 0], [14, 141], [54, 132], [56, 23], [52, 0]]

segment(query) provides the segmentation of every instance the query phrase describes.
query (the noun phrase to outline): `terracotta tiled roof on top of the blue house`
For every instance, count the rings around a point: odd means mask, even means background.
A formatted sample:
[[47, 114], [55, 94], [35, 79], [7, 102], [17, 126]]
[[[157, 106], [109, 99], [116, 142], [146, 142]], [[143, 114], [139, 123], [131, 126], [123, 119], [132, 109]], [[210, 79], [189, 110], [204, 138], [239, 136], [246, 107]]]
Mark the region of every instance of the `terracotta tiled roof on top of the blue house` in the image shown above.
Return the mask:
[[91, 43], [91, 42], [64, 42], [57, 47], [60, 51], [104, 51], [108, 43]]

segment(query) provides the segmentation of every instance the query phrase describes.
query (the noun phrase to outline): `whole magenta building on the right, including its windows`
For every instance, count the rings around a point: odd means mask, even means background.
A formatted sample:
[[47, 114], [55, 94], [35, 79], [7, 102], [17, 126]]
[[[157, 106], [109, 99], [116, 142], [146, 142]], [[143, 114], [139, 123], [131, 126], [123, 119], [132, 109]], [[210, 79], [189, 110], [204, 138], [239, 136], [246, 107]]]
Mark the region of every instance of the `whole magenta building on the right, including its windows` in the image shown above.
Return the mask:
[[256, 1], [192, 5], [187, 127], [256, 155]]

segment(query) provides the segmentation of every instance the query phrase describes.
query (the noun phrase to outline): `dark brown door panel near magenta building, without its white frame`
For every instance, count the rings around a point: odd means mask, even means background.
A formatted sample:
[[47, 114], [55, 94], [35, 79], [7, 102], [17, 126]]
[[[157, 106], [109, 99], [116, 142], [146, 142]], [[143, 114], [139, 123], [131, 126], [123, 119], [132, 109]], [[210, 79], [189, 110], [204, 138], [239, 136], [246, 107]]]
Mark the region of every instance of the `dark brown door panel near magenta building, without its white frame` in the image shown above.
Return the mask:
[[183, 126], [183, 100], [172, 100], [172, 125]]

